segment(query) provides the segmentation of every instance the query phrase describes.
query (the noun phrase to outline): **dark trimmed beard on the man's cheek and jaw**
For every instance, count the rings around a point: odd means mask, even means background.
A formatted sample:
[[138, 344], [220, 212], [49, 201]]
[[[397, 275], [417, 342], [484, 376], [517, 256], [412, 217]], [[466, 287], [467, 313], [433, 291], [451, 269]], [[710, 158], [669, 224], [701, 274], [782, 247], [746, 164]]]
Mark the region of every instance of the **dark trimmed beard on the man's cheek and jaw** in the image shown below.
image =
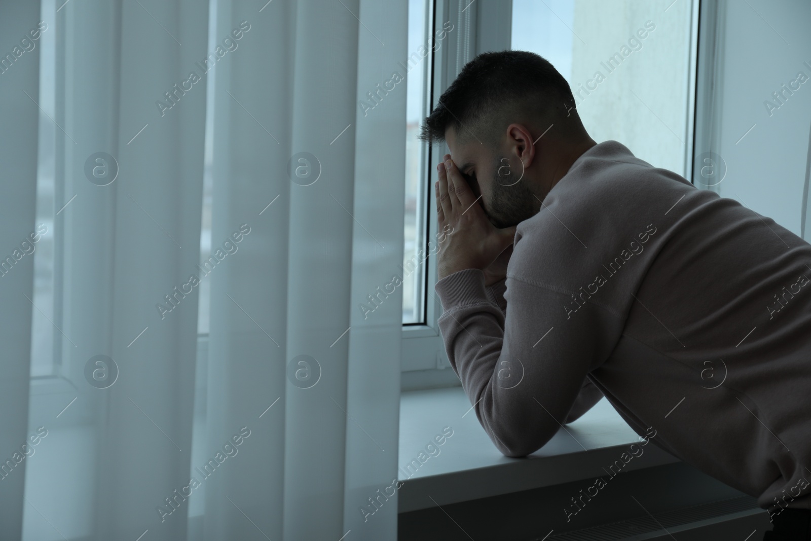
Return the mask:
[[504, 165], [508, 163], [506, 160], [506, 158], [496, 160], [491, 208], [487, 209], [491, 223], [499, 229], [518, 225], [521, 221], [533, 217], [540, 207], [535, 203], [535, 197], [526, 180], [522, 178], [523, 171], [519, 174], [510, 171], [508, 166]]

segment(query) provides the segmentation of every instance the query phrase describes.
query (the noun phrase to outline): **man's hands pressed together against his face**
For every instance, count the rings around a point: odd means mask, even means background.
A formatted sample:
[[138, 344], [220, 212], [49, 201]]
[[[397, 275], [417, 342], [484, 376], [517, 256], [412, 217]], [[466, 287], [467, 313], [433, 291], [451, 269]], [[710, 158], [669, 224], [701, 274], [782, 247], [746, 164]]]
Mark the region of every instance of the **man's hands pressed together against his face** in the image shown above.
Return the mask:
[[444, 160], [437, 168], [439, 180], [435, 184], [437, 230], [446, 230], [445, 225], [450, 225], [451, 233], [440, 241], [439, 279], [466, 268], [478, 268], [484, 273], [485, 286], [492, 286], [507, 276], [516, 228], [492, 225], [450, 154], [445, 154]]

